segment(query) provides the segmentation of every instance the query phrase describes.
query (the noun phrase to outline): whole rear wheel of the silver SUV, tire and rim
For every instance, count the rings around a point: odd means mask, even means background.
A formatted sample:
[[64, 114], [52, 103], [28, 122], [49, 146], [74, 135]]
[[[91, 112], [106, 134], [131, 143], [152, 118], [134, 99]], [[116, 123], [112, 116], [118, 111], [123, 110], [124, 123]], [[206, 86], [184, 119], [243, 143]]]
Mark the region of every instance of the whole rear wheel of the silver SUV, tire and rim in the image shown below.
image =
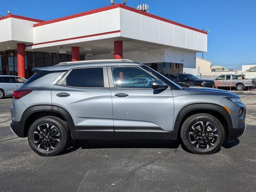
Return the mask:
[[60, 154], [66, 148], [68, 139], [69, 130], [64, 121], [52, 116], [39, 118], [28, 130], [28, 143], [40, 156]]

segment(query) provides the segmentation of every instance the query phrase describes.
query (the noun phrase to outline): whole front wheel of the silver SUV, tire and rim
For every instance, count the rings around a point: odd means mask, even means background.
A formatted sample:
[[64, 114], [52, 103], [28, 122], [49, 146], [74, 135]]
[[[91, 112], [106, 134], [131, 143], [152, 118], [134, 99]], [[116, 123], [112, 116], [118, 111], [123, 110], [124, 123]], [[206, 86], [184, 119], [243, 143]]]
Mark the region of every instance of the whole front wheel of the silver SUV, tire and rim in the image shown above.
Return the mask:
[[204, 113], [187, 118], [182, 124], [180, 135], [186, 148], [195, 154], [215, 153], [225, 139], [221, 122], [214, 116]]

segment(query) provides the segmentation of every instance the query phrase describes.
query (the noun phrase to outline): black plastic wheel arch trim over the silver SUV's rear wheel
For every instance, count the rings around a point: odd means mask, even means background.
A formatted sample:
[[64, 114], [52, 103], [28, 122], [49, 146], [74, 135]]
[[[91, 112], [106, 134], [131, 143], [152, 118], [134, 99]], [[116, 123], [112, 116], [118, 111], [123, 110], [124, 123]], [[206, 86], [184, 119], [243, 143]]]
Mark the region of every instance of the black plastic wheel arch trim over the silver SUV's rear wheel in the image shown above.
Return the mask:
[[74, 122], [70, 114], [65, 109], [59, 106], [52, 105], [36, 105], [27, 108], [22, 114], [21, 122], [23, 123], [24, 137], [28, 135], [28, 129], [30, 128], [31, 124], [36, 119], [44, 116], [54, 116], [66, 121], [68, 124], [68, 129], [70, 130], [70, 134], [72, 136]]

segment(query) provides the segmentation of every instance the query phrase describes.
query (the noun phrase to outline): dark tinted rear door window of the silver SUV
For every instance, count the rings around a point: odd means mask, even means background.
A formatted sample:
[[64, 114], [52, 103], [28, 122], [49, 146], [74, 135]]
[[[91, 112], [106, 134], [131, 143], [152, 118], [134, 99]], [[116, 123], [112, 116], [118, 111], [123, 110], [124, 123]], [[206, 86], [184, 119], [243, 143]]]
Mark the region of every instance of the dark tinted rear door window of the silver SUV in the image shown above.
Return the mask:
[[104, 87], [103, 68], [73, 69], [64, 84], [72, 87]]

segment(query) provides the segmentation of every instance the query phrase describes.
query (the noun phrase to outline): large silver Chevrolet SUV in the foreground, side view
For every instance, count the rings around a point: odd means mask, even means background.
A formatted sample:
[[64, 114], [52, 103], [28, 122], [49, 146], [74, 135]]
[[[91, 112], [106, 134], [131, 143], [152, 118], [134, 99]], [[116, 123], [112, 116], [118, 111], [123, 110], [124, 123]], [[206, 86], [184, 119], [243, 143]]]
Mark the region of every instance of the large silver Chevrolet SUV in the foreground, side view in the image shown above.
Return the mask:
[[57, 155], [68, 140], [181, 137], [196, 154], [211, 154], [243, 134], [238, 95], [182, 88], [130, 60], [66, 62], [34, 68], [13, 93], [12, 131], [34, 152]]

